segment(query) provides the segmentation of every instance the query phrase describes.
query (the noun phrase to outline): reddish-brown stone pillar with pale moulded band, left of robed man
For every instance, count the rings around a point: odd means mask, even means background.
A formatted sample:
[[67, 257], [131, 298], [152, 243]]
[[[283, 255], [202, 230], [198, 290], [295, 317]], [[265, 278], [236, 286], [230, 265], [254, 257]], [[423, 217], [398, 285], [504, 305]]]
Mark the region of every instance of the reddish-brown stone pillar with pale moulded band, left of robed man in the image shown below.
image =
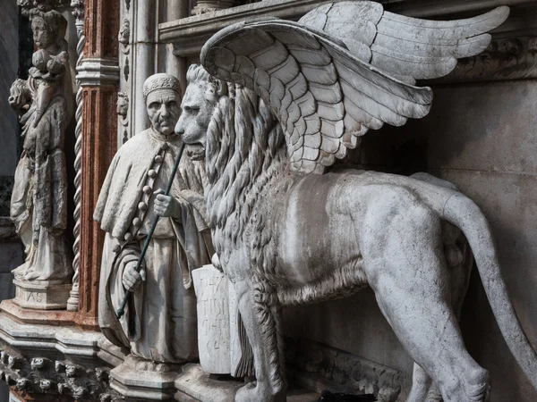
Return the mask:
[[78, 67], [82, 88], [81, 226], [79, 315], [81, 325], [98, 326], [98, 280], [105, 234], [93, 221], [98, 193], [117, 148], [119, 4], [85, 1], [86, 46]]

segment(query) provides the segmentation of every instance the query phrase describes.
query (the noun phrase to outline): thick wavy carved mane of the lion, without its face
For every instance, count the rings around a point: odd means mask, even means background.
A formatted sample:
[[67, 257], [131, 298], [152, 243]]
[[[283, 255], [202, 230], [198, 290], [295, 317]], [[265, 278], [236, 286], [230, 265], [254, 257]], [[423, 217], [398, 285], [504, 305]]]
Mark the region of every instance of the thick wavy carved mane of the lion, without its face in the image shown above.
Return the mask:
[[[228, 84], [227, 95], [220, 96], [207, 134], [206, 199], [221, 258], [225, 258], [226, 248], [234, 247], [243, 235], [267, 234], [267, 230], [245, 230], [261, 195], [281, 184], [275, 181], [287, 170], [287, 164], [284, 132], [274, 114], [251, 90]], [[266, 243], [266, 239], [260, 241]]]

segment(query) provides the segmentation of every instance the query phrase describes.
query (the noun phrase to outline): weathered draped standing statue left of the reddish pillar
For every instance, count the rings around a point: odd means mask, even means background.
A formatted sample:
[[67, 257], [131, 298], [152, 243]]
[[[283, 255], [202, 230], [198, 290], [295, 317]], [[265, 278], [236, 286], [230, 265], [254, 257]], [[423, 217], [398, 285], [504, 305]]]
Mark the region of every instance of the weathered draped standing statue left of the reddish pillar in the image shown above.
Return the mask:
[[72, 274], [71, 250], [64, 239], [67, 177], [64, 137], [73, 97], [67, 21], [56, 11], [30, 12], [38, 50], [28, 80], [13, 82], [10, 105], [21, 115], [23, 151], [17, 165], [11, 218], [25, 247], [16, 281], [66, 283]]

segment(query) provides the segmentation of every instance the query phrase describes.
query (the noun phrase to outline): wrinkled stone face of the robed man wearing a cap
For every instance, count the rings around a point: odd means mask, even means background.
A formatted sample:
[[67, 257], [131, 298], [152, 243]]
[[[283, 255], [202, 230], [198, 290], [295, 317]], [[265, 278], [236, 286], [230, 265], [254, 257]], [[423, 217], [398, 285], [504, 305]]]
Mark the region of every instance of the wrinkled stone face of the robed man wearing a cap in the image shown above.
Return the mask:
[[175, 90], [160, 88], [150, 92], [146, 105], [153, 130], [165, 136], [172, 134], [181, 113]]

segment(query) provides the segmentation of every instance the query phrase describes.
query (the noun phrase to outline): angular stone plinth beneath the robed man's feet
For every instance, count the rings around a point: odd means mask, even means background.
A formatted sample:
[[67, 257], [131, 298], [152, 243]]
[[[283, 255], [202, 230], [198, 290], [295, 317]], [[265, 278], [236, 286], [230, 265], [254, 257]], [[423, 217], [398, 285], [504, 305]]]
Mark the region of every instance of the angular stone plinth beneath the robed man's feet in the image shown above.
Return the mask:
[[140, 370], [127, 358], [110, 371], [110, 388], [128, 402], [168, 400], [174, 398], [177, 375], [174, 371]]

